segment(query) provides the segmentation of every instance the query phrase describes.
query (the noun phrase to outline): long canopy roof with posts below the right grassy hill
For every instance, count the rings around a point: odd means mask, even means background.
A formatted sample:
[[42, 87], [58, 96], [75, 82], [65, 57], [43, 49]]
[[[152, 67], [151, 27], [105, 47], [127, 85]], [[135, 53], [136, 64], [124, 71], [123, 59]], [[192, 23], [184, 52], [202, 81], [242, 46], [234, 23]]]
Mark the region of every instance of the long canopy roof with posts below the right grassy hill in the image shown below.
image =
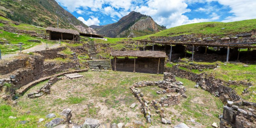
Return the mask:
[[[239, 52], [240, 52], [240, 48], [247, 48], [248, 50], [250, 50], [251, 48], [256, 48], [256, 43], [255, 42], [251, 42], [251, 43], [219, 43], [219, 42], [213, 42], [213, 43], [188, 43], [188, 42], [162, 42], [162, 41], [151, 41], [151, 40], [137, 40], [137, 42], [141, 42], [142, 44], [145, 43], [151, 43], [151, 44], [164, 44], [164, 45], [170, 45], [171, 46], [171, 51], [170, 51], [170, 59], [172, 57], [172, 45], [185, 45], [187, 47], [187, 45], [191, 45], [192, 46], [192, 60], [194, 59], [194, 50], [196, 46], [204, 46], [205, 47], [205, 53], [207, 52], [207, 47], [226, 47], [227, 48], [227, 58], [226, 58], [226, 62], [228, 62], [229, 60], [229, 51], [230, 48], [237, 48], [238, 49], [238, 57], [237, 60], [239, 58]], [[154, 48], [154, 47], [153, 47]]]

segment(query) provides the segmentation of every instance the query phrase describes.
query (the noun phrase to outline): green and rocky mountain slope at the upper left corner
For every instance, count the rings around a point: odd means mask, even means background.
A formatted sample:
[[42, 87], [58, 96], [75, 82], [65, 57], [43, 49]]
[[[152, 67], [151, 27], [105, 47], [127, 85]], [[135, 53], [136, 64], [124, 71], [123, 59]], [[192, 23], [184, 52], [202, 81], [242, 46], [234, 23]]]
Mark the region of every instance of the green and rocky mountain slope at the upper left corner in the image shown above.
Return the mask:
[[71, 28], [95, 33], [82, 21], [63, 9], [55, 0], [1, 0], [0, 14], [11, 20], [40, 27]]

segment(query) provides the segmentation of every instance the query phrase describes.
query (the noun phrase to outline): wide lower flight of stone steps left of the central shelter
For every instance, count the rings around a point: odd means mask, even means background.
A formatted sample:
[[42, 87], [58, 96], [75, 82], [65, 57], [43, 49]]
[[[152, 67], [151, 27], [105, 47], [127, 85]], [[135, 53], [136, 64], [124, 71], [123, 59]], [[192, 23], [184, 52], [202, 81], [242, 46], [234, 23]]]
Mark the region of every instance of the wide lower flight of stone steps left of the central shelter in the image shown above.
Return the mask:
[[89, 61], [90, 69], [99, 69], [98, 65], [101, 65], [101, 69], [112, 69], [110, 60], [92, 60]]

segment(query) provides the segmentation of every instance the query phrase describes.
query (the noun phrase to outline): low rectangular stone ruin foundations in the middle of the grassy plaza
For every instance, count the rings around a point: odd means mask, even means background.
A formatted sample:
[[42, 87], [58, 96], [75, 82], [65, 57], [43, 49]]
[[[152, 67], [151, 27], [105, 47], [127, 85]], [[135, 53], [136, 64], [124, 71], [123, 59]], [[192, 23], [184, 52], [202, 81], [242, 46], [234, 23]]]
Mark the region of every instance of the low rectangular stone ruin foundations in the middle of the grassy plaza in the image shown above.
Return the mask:
[[[166, 93], [167, 95], [164, 97], [161, 97], [156, 100], [152, 100], [149, 102], [146, 97], [144, 97], [144, 94], [140, 92], [138, 88], [140, 87], [146, 87], [146, 86], [158, 86], [159, 88], [164, 89], [163, 91], [157, 91], [158, 94], [163, 94]], [[150, 108], [148, 108], [149, 105], [153, 106], [156, 109], [156, 113], [159, 114], [161, 117], [161, 122], [163, 124], [171, 124], [170, 120], [166, 120], [165, 113], [164, 113], [164, 108], [163, 106], [169, 106], [169, 105], [176, 105], [180, 103], [180, 98], [187, 98], [185, 95], [186, 92], [186, 87], [183, 86], [182, 82], [178, 82], [175, 79], [175, 76], [164, 72], [164, 80], [163, 81], [155, 81], [155, 82], [150, 82], [150, 81], [142, 81], [134, 84], [133, 86], [130, 87], [132, 90], [132, 93], [134, 96], [140, 101], [141, 103], [141, 111], [144, 114], [146, 120], [148, 123], [152, 122], [151, 119], [151, 113], [150, 113]], [[173, 94], [174, 92], [177, 92], [177, 94]]]

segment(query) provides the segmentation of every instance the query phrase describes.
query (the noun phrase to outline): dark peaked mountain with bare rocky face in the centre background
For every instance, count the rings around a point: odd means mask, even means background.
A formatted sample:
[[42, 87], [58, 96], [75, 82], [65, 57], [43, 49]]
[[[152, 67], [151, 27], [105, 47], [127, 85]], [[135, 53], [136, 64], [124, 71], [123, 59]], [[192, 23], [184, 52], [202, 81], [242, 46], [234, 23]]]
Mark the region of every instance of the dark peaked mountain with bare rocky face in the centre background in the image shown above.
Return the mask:
[[149, 16], [130, 12], [116, 23], [105, 26], [92, 26], [98, 34], [106, 37], [137, 37], [154, 34], [164, 29]]

